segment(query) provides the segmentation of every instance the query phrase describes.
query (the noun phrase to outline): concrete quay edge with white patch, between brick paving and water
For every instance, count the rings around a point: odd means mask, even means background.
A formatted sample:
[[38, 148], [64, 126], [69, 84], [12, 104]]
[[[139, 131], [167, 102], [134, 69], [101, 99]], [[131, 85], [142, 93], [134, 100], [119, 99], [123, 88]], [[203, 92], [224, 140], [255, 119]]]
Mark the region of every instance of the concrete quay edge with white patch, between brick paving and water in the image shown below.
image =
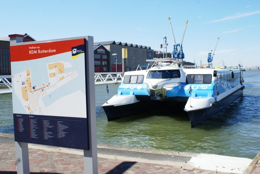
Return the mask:
[[[7, 139], [9, 139], [9, 142], [10, 140], [14, 141], [13, 134], [0, 133], [0, 136], [6, 137], [5, 139], [2, 139], [0, 141], [7, 141]], [[30, 143], [28, 144], [28, 147], [46, 151], [83, 155], [83, 150], [64, 147], [53, 147]], [[250, 172], [254, 167], [254, 164], [257, 163], [257, 158], [251, 160], [248, 158], [236, 158], [214, 154], [195, 154], [189, 152], [125, 147], [108, 144], [97, 144], [97, 156], [101, 158], [153, 163], [159, 165], [172, 165], [173, 167], [181, 169], [204, 169], [216, 172], [240, 174], [247, 171]], [[243, 166], [241, 167], [241, 165]], [[250, 166], [252, 167], [249, 168]]]

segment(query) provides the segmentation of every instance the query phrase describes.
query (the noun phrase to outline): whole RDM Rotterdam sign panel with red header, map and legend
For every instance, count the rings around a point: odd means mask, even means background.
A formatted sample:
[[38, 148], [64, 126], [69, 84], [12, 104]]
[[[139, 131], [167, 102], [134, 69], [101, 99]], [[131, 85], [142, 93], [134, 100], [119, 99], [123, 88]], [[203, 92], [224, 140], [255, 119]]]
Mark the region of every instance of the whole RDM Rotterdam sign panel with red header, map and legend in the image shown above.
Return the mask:
[[10, 47], [15, 141], [89, 150], [86, 42]]

